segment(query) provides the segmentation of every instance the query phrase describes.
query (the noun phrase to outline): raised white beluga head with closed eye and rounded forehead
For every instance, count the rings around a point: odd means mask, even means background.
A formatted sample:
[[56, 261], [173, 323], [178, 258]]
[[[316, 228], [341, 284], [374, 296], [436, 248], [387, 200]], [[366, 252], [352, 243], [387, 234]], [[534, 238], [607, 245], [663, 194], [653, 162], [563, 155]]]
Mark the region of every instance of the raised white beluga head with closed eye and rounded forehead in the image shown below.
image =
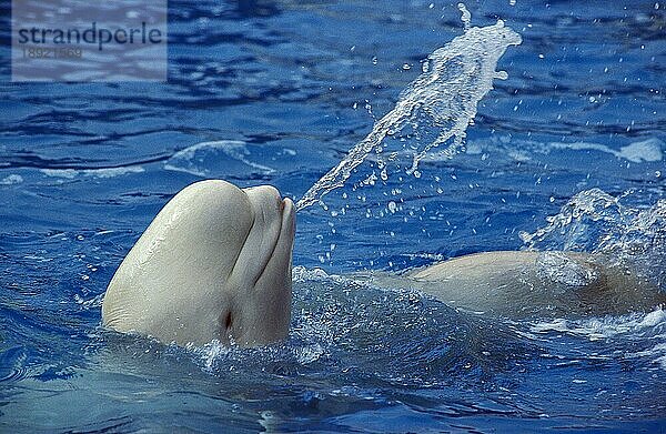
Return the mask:
[[293, 203], [272, 186], [189, 185], [120, 264], [104, 295], [103, 324], [180, 345], [284, 339], [294, 232]]

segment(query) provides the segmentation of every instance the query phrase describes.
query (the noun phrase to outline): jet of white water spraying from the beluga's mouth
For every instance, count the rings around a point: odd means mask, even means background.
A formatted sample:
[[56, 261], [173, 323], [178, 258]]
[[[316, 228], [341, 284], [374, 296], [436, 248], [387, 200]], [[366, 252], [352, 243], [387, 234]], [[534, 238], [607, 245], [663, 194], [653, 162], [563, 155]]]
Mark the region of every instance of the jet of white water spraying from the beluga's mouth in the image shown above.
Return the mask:
[[470, 27], [470, 12], [462, 3], [458, 9], [464, 33], [427, 58], [423, 73], [400, 94], [395, 108], [375, 123], [370, 134], [337, 166], [307, 190], [296, 203], [296, 210], [307, 208], [331, 190], [343, 186], [370, 152], [382, 151], [387, 135], [396, 134], [407, 123], [417, 124], [420, 118], [430, 120], [438, 135], [414, 151], [412, 166], [406, 171], [408, 174], [417, 175], [418, 162], [441, 144], [450, 142], [441, 152], [444, 157], [453, 157], [461, 149], [465, 130], [474, 121], [481, 99], [493, 89], [493, 80], [508, 77], [505, 71], [495, 70], [497, 61], [509, 46], [518, 46], [522, 38], [502, 20], [494, 26]]

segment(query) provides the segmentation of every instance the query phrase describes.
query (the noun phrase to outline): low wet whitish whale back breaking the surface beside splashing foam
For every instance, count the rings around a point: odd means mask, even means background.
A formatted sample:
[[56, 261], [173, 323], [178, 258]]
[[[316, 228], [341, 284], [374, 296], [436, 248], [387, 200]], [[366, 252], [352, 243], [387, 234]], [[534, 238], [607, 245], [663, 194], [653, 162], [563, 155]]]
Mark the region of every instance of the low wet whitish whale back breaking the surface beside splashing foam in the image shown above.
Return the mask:
[[417, 289], [452, 307], [512, 319], [625, 314], [666, 302], [629, 268], [575, 252], [485, 252], [370, 277], [382, 287]]

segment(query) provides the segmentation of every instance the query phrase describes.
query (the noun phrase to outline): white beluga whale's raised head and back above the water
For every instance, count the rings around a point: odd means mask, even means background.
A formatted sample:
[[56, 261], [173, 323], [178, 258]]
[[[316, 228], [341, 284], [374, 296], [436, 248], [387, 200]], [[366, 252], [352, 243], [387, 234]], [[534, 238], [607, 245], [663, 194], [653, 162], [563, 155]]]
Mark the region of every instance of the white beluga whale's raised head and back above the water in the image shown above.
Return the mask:
[[[242, 346], [289, 332], [295, 216], [272, 186], [202, 181], [160, 211], [115, 272], [103, 323], [164, 343]], [[666, 295], [629, 268], [573, 252], [487, 252], [395, 275], [356, 274], [421, 290], [453, 307], [508, 317], [646, 311]]]

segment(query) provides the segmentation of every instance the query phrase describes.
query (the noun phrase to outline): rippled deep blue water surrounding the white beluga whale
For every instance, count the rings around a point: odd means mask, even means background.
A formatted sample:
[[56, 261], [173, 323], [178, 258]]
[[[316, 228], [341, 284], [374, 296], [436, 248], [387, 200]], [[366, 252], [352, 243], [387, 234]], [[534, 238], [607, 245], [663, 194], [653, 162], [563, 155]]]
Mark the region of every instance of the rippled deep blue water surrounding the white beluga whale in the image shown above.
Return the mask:
[[[664, 4], [468, 2], [473, 26], [502, 18], [523, 43], [501, 59], [508, 80], [480, 104], [466, 152], [354, 189], [369, 161], [300, 212], [290, 337], [255, 350], [110, 333], [101, 297], [191, 182], [270, 183], [299, 199], [462, 32], [460, 12], [169, 6], [168, 83], [27, 84], [9, 82], [0, 3], [0, 431], [666, 431], [659, 307], [514, 322], [345, 277], [612, 243], [640, 246], [636, 263], [664, 290]], [[583, 199], [584, 211], [581, 193], [606, 205]]]

